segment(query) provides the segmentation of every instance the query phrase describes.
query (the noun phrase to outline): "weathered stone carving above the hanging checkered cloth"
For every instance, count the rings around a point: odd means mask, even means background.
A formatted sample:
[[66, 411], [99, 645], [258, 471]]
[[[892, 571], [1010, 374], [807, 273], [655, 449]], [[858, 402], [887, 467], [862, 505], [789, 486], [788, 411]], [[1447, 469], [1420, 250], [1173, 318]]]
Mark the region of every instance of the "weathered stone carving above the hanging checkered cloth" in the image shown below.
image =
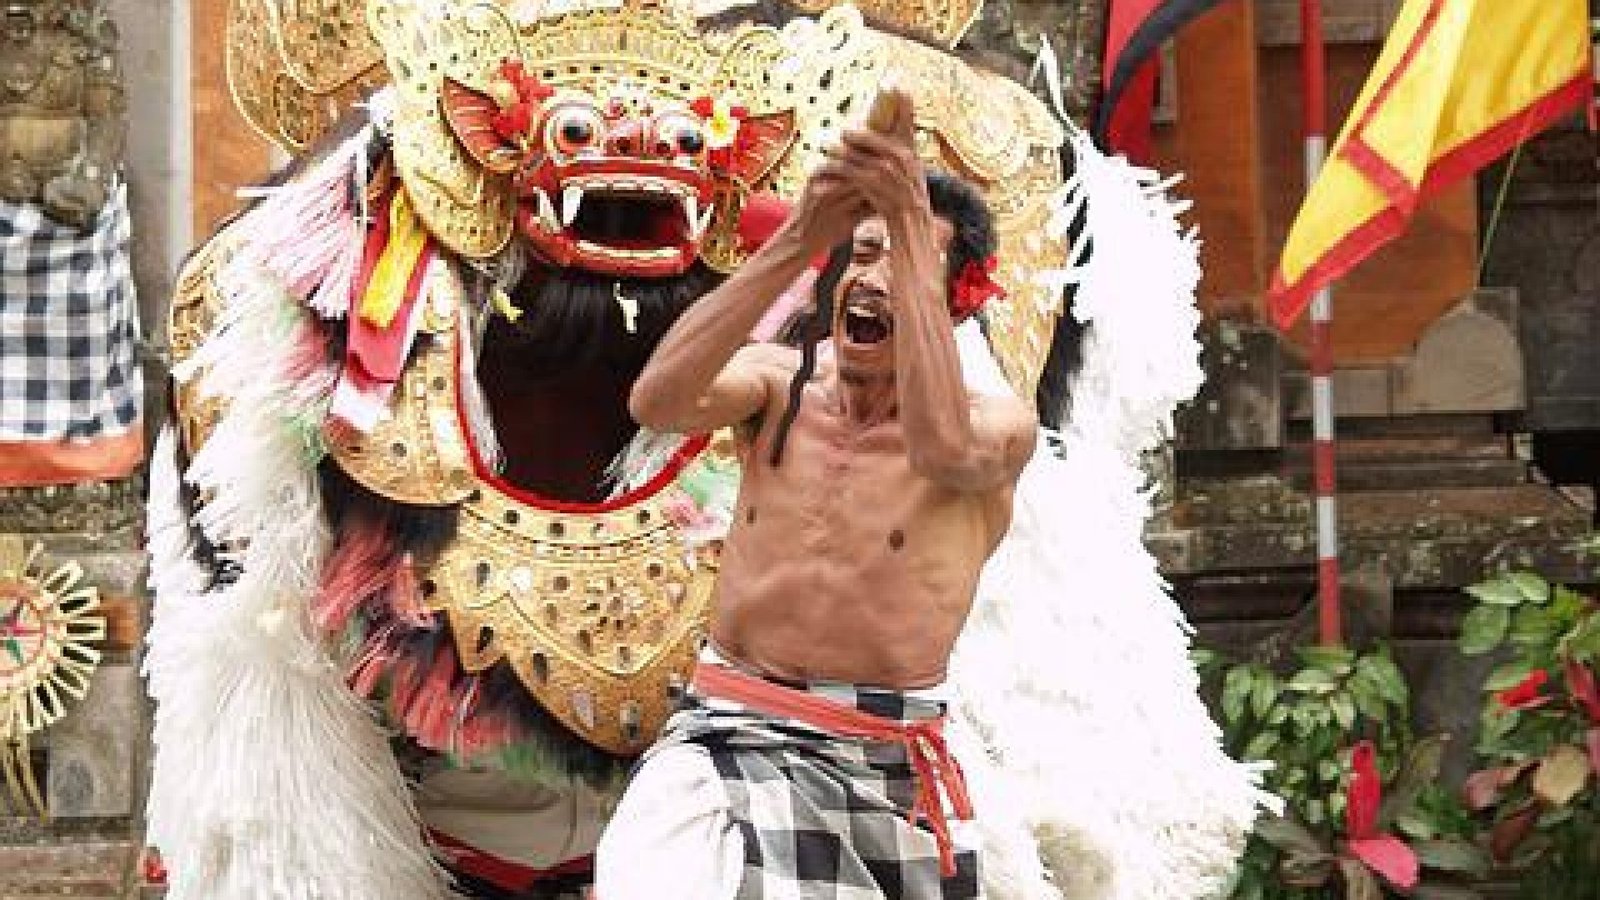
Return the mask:
[[122, 159], [117, 29], [99, 3], [10, 2], [0, 21], [0, 197], [86, 226]]

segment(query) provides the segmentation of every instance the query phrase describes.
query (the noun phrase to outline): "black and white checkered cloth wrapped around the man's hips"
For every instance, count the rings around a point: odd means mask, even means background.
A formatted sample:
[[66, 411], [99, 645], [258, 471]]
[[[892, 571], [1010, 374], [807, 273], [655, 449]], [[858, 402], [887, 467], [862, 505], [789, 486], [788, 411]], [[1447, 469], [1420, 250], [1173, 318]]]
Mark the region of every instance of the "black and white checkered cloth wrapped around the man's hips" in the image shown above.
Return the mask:
[[[942, 703], [845, 684], [805, 685], [826, 700], [898, 722], [936, 719]], [[842, 738], [722, 698], [690, 695], [658, 746], [704, 748], [744, 841], [738, 900], [966, 900], [978, 854], [957, 833], [955, 874], [910, 825], [917, 781], [904, 745]], [[952, 823], [958, 825], [958, 823]]]

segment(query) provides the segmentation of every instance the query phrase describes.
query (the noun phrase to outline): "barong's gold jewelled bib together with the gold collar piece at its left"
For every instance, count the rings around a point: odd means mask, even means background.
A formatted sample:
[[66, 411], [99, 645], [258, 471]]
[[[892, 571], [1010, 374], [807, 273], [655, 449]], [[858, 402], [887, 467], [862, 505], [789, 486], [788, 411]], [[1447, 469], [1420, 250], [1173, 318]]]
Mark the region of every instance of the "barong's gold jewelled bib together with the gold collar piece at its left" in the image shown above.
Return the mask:
[[382, 496], [461, 509], [456, 538], [418, 577], [467, 671], [504, 660], [573, 733], [637, 754], [693, 666], [715, 560], [686, 551], [666, 492], [571, 509], [474, 466], [458, 415], [462, 285], [446, 264], [426, 283], [453, 327], [419, 341], [390, 415], [366, 434], [330, 428], [328, 452]]

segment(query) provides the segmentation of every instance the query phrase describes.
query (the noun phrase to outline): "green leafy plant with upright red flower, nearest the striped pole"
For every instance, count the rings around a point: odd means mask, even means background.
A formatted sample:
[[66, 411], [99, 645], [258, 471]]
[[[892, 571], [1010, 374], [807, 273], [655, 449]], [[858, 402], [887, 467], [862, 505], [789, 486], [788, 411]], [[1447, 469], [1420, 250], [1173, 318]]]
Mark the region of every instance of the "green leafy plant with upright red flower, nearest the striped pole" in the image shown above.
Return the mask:
[[1413, 740], [1410, 690], [1387, 652], [1304, 647], [1286, 676], [1254, 663], [1197, 660], [1227, 749], [1270, 764], [1285, 801], [1245, 849], [1234, 900], [1478, 897], [1466, 882], [1488, 857], [1437, 785], [1443, 740]]

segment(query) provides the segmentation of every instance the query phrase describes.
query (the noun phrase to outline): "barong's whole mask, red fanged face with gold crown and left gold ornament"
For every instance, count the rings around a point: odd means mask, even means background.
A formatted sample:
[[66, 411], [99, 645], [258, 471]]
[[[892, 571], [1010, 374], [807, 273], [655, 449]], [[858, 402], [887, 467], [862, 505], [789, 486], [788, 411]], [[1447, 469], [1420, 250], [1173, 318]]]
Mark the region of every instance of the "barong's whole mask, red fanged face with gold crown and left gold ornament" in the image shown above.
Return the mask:
[[776, 34], [718, 50], [672, 13], [629, 13], [518, 27], [494, 3], [371, 5], [395, 160], [451, 250], [493, 256], [520, 232], [539, 261], [600, 275], [738, 264], [744, 203], [797, 131], [792, 98], [733, 90]]

